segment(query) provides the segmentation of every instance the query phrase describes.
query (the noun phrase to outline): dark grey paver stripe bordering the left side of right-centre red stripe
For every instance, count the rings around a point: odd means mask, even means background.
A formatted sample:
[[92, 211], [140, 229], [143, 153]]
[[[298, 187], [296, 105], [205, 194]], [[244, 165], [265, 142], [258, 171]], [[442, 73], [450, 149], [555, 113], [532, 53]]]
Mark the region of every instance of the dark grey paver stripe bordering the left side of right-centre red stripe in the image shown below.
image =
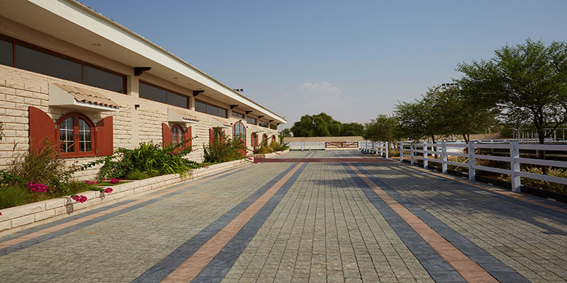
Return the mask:
[[360, 187], [368, 200], [374, 204], [378, 212], [386, 219], [388, 224], [392, 227], [393, 231], [398, 234], [398, 237], [403, 241], [405, 246], [413, 253], [415, 258], [419, 260], [425, 270], [435, 281], [452, 281], [452, 282], [465, 282], [463, 277], [459, 275], [449, 263], [444, 260], [427, 242], [423, 240], [417, 233], [407, 224], [403, 219], [396, 214], [391, 207], [383, 202], [378, 195], [364, 183], [354, 171], [352, 171], [346, 164], [342, 164], [345, 171], [349, 173], [351, 178]]

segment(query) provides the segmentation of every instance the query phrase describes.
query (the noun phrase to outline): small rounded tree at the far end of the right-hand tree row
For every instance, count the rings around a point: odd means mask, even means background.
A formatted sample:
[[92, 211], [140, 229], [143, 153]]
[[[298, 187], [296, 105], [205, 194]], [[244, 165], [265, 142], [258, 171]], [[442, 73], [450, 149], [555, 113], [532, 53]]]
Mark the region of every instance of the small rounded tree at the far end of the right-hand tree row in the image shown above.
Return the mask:
[[376, 119], [366, 123], [362, 137], [371, 141], [389, 141], [395, 144], [395, 141], [400, 140], [398, 120], [388, 115], [378, 115]]

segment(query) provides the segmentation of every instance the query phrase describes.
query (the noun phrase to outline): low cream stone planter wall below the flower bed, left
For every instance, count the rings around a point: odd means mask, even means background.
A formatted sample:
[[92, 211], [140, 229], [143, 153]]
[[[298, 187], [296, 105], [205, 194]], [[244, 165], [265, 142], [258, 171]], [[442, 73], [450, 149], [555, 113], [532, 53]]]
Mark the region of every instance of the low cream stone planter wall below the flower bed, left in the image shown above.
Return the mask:
[[71, 197], [60, 197], [43, 202], [24, 204], [19, 207], [1, 209], [0, 212], [0, 236], [16, 233], [23, 229], [38, 226], [51, 221], [72, 216], [77, 213], [86, 212], [103, 205], [119, 202], [129, 197], [143, 195], [155, 190], [162, 190], [172, 185], [176, 185], [187, 180], [213, 175], [220, 171], [249, 164], [245, 159], [230, 161], [198, 168], [191, 171], [189, 178], [181, 178], [178, 174], [162, 175], [144, 180], [136, 180], [130, 183], [113, 185], [113, 192], [105, 194], [102, 192], [89, 191], [82, 192], [80, 195], [87, 197], [84, 203], [76, 202]]

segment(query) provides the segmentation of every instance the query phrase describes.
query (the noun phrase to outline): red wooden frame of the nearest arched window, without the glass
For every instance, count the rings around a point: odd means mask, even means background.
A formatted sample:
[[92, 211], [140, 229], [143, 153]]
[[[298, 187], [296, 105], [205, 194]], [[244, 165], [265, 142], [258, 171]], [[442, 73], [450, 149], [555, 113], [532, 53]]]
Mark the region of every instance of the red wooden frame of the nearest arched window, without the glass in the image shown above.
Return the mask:
[[[67, 118], [73, 117], [73, 141], [74, 141], [74, 151], [73, 152], [61, 152], [60, 147], [60, 139], [61, 139], [61, 123]], [[79, 118], [84, 120], [89, 127], [91, 127], [91, 151], [79, 151], [80, 143], [79, 143]], [[72, 157], [91, 157], [96, 156], [96, 126], [94, 123], [86, 117], [85, 115], [77, 112], [67, 113], [62, 115], [57, 122], [55, 122], [56, 132], [55, 132], [55, 141], [57, 144], [57, 153], [60, 154], [62, 158], [72, 158]]]

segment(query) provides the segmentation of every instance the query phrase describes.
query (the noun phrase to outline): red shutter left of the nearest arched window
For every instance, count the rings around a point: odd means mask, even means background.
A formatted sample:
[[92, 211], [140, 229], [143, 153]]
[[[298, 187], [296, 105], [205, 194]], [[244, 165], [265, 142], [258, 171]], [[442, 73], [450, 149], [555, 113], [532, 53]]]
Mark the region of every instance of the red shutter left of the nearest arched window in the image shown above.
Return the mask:
[[55, 144], [55, 122], [42, 110], [30, 106], [29, 108], [29, 123], [30, 123], [30, 151], [40, 152], [47, 144], [52, 146], [55, 151], [57, 144]]

